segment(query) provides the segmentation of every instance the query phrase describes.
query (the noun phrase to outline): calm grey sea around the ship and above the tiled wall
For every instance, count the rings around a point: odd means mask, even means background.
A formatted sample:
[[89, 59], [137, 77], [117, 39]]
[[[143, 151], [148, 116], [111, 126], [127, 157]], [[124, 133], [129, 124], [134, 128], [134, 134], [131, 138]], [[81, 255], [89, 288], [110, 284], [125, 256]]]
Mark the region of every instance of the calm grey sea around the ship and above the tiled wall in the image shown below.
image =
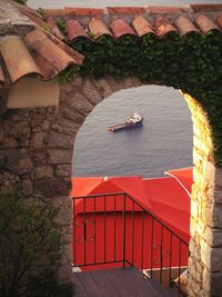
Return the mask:
[[[33, 8], [105, 6], [185, 6], [221, 0], [29, 0]], [[144, 117], [141, 129], [109, 132], [134, 112]], [[192, 166], [192, 123], [178, 90], [147, 86], [119, 91], [95, 107], [82, 125], [74, 145], [74, 176], [163, 176], [164, 170]]]

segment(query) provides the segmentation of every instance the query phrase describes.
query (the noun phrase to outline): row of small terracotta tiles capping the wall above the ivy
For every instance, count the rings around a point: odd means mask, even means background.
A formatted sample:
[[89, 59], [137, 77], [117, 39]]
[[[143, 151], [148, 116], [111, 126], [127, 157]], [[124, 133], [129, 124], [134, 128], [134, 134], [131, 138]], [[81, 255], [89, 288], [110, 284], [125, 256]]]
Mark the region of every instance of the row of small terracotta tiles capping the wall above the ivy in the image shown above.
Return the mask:
[[124, 34], [142, 37], [151, 33], [163, 38], [170, 32], [208, 33], [222, 29], [222, 4], [189, 4], [185, 7], [107, 7], [46, 9], [44, 18], [53, 23], [64, 18], [68, 39], [84, 37], [97, 40], [108, 34], [114, 39]]

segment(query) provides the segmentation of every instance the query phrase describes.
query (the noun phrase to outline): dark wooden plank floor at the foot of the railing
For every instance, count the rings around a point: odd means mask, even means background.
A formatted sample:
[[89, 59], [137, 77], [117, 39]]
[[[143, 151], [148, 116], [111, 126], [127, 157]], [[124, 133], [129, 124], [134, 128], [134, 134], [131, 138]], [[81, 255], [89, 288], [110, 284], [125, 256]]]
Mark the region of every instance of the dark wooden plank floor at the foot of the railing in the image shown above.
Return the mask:
[[169, 297], [133, 267], [74, 273], [74, 297]]

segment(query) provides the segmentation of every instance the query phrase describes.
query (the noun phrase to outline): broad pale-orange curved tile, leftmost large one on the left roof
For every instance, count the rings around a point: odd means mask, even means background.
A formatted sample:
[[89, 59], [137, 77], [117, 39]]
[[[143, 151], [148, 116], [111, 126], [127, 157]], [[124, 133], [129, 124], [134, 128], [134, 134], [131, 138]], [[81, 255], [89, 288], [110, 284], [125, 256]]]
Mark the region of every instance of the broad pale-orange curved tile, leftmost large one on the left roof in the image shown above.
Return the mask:
[[10, 76], [8, 83], [14, 83], [21, 77], [31, 73], [42, 76], [20, 37], [3, 38], [0, 43], [0, 52]]

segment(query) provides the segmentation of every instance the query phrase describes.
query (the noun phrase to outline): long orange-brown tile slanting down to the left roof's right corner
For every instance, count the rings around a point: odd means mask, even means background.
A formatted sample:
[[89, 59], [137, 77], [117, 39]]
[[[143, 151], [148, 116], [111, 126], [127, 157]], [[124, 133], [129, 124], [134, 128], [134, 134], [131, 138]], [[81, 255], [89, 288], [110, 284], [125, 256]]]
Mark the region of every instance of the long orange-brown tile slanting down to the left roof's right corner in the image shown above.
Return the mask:
[[65, 51], [57, 47], [39, 30], [28, 33], [24, 41], [58, 71], [62, 71], [67, 66], [73, 63], [73, 59]]

